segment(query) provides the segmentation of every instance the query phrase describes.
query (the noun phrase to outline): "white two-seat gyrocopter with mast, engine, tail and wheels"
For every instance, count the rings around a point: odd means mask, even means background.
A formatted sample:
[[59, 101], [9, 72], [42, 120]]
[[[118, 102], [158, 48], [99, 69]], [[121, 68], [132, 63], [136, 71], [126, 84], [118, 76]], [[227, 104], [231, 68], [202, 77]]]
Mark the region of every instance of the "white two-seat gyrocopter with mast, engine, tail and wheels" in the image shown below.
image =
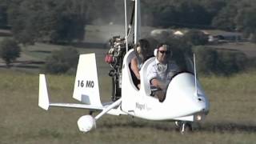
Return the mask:
[[[134, 49], [130, 47], [140, 38], [140, 0], [134, 0], [134, 10], [127, 26], [126, 0], [125, 0], [125, 23], [126, 34], [124, 38], [114, 37], [110, 40], [110, 57], [106, 59], [110, 63], [110, 76], [113, 81], [112, 102], [102, 103], [98, 87], [98, 74], [95, 54], [80, 54], [78, 69], [74, 82], [73, 98], [81, 103], [55, 103], [49, 101], [48, 88], [45, 74], [39, 74], [39, 98], [38, 106], [48, 110], [50, 106], [81, 108], [100, 111], [93, 117], [90, 113], [78, 119], [78, 128], [82, 132], [88, 132], [96, 128], [96, 121], [104, 114], [131, 115], [153, 121], [174, 122], [182, 134], [192, 130], [193, 122], [201, 122], [209, 112], [209, 100], [198, 82], [194, 59], [184, 57], [185, 68], [174, 74], [166, 88], [166, 98], [159, 102], [152, 96], [150, 82], [146, 76], [147, 67], [153, 58], [144, 62], [141, 74], [140, 89], [136, 88], [130, 72], [131, 58], [134, 58]], [[131, 24], [134, 23], [134, 44], [128, 43]], [[128, 28], [129, 27], [129, 28]], [[153, 52], [152, 52], [153, 54]]]

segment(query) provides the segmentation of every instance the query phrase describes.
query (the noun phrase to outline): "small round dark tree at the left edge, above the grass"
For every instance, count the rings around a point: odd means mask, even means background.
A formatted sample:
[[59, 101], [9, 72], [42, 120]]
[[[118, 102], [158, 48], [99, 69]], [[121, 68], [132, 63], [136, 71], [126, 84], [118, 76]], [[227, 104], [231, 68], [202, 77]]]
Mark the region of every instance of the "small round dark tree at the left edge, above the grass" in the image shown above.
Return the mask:
[[10, 67], [10, 63], [19, 57], [20, 52], [21, 49], [14, 39], [6, 38], [0, 43], [1, 58], [6, 62], [7, 67]]

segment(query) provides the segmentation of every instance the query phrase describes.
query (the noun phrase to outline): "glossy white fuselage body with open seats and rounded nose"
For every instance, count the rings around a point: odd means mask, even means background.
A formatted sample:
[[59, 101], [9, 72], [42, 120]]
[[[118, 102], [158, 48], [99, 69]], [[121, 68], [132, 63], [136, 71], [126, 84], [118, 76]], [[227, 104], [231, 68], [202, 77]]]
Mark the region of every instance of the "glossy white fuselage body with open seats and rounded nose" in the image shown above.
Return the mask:
[[[130, 50], [122, 66], [122, 111], [138, 118], [150, 120], [185, 120], [194, 121], [194, 114], [206, 114], [209, 102], [202, 86], [197, 82], [195, 89], [194, 74], [177, 74], [167, 88], [166, 99], [159, 102], [158, 98], [150, 96], [150, 82], [146, 78], [146, 68], [154, 58], [144, 63], [141, 70], [141, 89], [134, 86], [129, 70], [130, 58], [134, 51]], [[185, 118], [185, 119], [184, 119]]]

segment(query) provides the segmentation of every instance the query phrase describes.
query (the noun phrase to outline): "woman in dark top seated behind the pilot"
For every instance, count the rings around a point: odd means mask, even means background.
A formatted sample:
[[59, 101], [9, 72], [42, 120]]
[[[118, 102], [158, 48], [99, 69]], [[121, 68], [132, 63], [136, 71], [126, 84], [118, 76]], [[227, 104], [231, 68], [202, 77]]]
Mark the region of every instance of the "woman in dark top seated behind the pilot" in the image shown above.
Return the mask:
[[132, 70], [132, 78], [134, 81], [134, 85], [140, 89], [140, 74], [139, 70], [141, 70], [143, 63], [149, 57], [148, 50], [150, 48], [150, 43], [146, 39], [140, 39], [138, 43], [134, 46], [134, 51], [136, 57], [131, 59], [130, 68]]

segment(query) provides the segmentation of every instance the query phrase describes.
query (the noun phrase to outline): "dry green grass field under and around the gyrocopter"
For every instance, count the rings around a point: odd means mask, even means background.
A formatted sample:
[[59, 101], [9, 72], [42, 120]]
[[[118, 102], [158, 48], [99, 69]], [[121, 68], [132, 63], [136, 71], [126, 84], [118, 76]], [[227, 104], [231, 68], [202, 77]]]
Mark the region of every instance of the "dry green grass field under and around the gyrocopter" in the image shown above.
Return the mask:
[[[254, 143], [256, 138], [256, 72], [230, 78], [201, 78], [210, 98], [210, 114], [194, 132], [183, 136], [173, 123], [130, 116], [104, 115], [97, 130], [78, 131], [77, 120], [87, 110], [38, 107], [38, 74], [0, 70], [1, 143]], [[47, 75], [50, 101], [71, 98], [74, 76]], [[110, 78], [100, 75], [102, 101], [110, 99]]]

